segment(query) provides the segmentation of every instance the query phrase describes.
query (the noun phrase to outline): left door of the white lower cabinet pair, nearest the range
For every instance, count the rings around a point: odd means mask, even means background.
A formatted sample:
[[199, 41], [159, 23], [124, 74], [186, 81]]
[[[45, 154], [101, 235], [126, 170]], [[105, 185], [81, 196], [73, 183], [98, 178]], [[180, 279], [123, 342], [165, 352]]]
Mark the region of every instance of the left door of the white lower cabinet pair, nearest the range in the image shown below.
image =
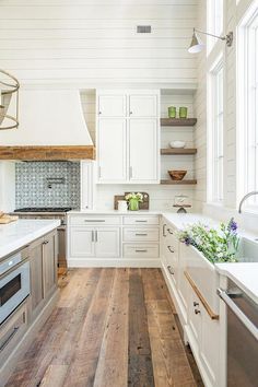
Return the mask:
[[70, 256], [90, 258], [94, 257], [94, 230], [90, 227], [71, 227]]

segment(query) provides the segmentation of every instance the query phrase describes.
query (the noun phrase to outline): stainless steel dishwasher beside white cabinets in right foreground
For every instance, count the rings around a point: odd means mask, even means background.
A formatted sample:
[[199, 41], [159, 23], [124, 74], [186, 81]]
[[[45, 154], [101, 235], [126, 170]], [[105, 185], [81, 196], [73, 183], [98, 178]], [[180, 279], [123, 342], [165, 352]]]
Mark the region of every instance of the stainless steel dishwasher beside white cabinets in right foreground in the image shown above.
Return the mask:
[[231, 280], [218, 294], [226, 304], [227, 387], [258, 386], [258, 305]]

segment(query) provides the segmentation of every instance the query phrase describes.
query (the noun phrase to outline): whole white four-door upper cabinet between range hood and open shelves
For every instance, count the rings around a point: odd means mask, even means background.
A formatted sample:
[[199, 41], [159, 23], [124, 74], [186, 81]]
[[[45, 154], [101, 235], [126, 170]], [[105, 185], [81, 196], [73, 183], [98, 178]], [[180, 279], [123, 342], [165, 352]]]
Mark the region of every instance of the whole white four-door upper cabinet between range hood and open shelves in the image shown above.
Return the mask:
[[160, 183], [160, 91], [98, 90], [97, 183]]

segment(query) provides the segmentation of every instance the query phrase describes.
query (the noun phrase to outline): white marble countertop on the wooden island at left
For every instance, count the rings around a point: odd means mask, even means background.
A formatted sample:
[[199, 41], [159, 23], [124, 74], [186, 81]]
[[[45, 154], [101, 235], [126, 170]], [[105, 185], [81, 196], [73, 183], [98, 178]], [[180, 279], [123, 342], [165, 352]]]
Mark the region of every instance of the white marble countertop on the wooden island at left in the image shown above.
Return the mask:
[[59, 220], [28, 220], [0, 225], [0, 259], [57, 228]]

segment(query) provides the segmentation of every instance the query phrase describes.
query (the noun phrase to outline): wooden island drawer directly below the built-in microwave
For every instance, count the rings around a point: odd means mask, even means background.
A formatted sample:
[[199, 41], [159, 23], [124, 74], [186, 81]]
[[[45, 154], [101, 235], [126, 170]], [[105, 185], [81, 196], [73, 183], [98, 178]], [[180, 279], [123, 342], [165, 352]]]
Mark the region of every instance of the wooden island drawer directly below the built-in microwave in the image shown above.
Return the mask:
[[27, 302], [23, 303], [0, 328], [0, 364], [3, 364], [27, 329]]

